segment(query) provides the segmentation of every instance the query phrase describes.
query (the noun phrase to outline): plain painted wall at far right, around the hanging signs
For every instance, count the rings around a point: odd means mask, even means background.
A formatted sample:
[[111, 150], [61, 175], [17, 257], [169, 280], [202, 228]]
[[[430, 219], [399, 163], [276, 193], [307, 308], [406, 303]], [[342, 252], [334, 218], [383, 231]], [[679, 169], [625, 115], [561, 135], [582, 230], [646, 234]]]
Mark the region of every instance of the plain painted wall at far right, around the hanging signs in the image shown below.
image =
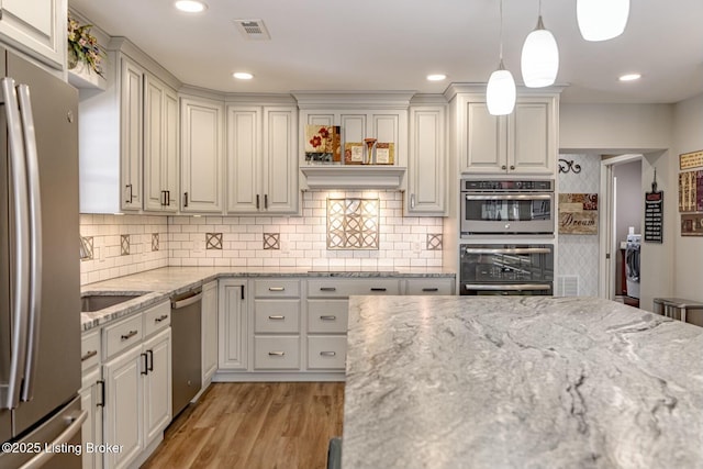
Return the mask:
[[[673, 112], [673, 150], [670, 161], [671, 185], [678, 185], [679, 155], [703, 149], [703, 94], [682, 101]], [[676, 199], [671, 191], [670, 199]], [[703, 238], [681, 236], [680, 215], [676, 200], [669, 210], [676, 213], [673, 295], [703, 301]]]

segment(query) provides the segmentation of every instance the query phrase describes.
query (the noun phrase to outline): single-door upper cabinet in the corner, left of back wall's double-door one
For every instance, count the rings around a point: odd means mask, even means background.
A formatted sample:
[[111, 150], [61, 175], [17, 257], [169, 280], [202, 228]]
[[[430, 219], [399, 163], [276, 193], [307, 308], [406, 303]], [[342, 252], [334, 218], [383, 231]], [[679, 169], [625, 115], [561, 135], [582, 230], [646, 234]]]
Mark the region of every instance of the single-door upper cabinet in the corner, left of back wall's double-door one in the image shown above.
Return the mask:
[[222, 212], [223, 105], [181, 99], [181, 210]]

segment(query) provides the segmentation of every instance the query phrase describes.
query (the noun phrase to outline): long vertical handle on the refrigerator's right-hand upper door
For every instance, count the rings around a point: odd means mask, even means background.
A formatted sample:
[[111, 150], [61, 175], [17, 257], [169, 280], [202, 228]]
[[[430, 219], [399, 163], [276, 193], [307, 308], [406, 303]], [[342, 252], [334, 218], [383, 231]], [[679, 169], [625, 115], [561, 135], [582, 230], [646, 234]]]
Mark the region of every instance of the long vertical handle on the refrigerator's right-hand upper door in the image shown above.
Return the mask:
[[30, 194], [30, 315], [27, 322], [26, 360], [22, 401], [34, 397], [36, 356], [40, 346], [40, 322], [42, 312], [42, 197], [40, 193], [40, 159], [36, 150], [36, 133], [30, 87], [18, 86], [20, 116], [24, 130], [24, 150]]

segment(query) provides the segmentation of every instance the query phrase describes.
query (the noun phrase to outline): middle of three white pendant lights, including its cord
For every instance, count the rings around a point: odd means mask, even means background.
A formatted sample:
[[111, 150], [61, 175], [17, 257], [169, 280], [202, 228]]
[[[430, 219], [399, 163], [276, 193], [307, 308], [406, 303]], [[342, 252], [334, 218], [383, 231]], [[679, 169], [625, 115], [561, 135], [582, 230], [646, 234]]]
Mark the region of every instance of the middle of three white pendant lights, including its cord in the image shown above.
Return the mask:
[[554, 85], [559, 71], [559, 47], [554, 35], [545, 30], [542, 21], [542, 0], [537, 27], [527, 35], [521, 57], [523, 81], [527, 88], [543, 88]]

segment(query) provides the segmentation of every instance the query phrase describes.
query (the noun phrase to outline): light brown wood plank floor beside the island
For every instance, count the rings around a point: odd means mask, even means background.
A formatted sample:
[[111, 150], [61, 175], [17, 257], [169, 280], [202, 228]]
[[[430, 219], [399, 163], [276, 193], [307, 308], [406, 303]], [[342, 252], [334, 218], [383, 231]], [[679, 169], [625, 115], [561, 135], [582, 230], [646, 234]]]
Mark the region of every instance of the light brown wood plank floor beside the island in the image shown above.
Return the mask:
[[324, 469], [343, 409], [342, 382], [213, 383], [142, 468]]

